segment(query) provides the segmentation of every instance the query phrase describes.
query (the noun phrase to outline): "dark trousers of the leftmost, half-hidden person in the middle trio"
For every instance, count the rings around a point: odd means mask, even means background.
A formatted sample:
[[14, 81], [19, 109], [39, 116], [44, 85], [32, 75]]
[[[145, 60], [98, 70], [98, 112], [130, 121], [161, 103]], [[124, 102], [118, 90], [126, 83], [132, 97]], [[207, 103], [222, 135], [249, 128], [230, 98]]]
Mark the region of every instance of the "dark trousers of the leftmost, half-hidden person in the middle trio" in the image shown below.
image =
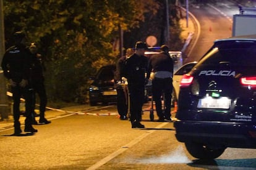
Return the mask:
[[127, 115], [127, 94], [122, 87], [117, 87], [117, 111], [120, 116]]

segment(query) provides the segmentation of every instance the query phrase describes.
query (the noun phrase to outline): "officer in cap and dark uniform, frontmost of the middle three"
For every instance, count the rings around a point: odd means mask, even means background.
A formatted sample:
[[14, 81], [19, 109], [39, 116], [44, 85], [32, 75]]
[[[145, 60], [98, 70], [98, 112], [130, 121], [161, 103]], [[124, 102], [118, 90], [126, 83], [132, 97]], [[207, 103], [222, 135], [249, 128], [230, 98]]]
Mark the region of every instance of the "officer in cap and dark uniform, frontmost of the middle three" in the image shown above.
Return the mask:
[[140, 123], [145, 92], [145, 73], [147, 73], [148, 59], [144, 56], [147, 45], [138, 41], [135, 44], [135, 53], [126, 60], [125, 75], [130, 93], [130, 122], [132, 128], [144, 128]]

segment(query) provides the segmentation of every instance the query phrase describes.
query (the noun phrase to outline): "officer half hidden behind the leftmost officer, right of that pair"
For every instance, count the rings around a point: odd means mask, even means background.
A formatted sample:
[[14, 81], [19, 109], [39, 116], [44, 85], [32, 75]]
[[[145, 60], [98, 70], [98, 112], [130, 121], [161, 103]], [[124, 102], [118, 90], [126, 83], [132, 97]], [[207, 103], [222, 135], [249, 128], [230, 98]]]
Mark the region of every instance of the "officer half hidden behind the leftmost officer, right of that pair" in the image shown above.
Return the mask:
[[[51, 121], [48, 121], [45, 118], [45, 108], [47, 103], [47, 95], [45, 91], [45, 76], [43, 75], [43, 71], [45, 68], [43, 67], [43, 61], [41, 59], [41, 55], [38, 54], [38, 49], [35, 45], [35, 43], [32, 43], [29, 47], [29, 50], [31, 52], [31, 83], [34, 90], [34, 96], [33, 96], [33, 110], [35, 110], [35, 94], [37, 93], [40, 98], [40, 119], [39, 123], [41, 124], [49, 124]], [[35, 111], [34, 111], [35, 114]], [[33, 124], [37, 124], [37, 121], [35, 120], [35, 115]]]

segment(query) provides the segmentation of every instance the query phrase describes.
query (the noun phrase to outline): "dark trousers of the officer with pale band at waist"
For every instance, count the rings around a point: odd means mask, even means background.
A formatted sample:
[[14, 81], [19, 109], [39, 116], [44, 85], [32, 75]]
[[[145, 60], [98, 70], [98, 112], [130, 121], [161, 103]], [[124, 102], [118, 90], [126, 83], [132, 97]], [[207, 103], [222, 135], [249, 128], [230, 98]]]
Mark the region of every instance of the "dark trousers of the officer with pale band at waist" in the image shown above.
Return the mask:
[[[172, 78], [154, 78], [152, 81], [153, 100], [156, 113], [160, 119], [171, 118], [171, 95], [173, 93]], [[164, 110], [162, 110], [161, 96], [164, 94]]]

